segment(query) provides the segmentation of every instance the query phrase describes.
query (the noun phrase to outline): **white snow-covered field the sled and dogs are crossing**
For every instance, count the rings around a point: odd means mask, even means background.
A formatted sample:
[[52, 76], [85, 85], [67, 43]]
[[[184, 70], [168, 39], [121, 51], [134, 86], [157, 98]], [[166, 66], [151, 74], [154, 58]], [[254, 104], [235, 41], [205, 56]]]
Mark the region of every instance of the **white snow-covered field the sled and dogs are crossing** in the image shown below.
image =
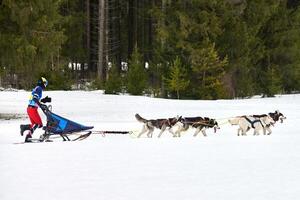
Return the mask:
[[[158, 139], [92, 135], [76, 142], [14, 144], [27, 123], [29, 92], [0, 92], [1, 200], [298, 200], [300, 199], [300, 95], [246, 100], [178, 101], [53, 91], [53, 112], [94, 130], [139, 130], [145, 118], [177, 115], [216, 118], [208, 137]], [[270, 136], [236, 136], [226, 118], [279, 109], [286, 117]], [[42, 113], [41, 113], [42, 115]], [[44, 119], [45, 120], [45, 119]], [[35, 137], [41, 131], [35, 133]]]

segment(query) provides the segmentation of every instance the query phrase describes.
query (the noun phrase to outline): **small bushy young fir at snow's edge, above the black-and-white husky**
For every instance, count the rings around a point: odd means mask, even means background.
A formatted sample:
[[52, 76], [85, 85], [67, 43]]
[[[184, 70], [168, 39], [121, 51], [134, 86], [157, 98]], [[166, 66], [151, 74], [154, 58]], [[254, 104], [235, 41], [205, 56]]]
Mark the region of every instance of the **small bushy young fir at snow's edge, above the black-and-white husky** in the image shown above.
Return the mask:
[[184, 70], [179, 57], [176, 57], [170, 70], [170, 78], [165, 79], [169, 90], [175, 91], [177, 99], [180, 99], [180, 91], [185, 90], [190, 81], [187, 80], [187, 73]]

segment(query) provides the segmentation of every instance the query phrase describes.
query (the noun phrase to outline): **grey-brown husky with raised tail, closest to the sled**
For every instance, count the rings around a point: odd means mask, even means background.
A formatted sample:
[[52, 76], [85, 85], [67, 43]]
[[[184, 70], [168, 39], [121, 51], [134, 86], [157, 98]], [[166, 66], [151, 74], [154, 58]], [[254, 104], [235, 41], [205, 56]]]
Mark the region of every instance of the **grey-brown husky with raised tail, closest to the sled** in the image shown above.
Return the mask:
[[172, 130], [172, 127], [181, 120], [181, 116], [173, 117], [173, 118], [167, 118], [167, 119], [144, 119], [139, 114], [135, 114], [135, 118], [142, 122], [143, 129], [139, 133], [138, 137], [141, 137], [144, 133], [147, 133], [147, 137], [152, 137], [154, 128], [160, 129], [160, 133], [158, 137], [161, 137], [162, 133], [168, 128], [168, 131], [175, 137], [175, 134]]

